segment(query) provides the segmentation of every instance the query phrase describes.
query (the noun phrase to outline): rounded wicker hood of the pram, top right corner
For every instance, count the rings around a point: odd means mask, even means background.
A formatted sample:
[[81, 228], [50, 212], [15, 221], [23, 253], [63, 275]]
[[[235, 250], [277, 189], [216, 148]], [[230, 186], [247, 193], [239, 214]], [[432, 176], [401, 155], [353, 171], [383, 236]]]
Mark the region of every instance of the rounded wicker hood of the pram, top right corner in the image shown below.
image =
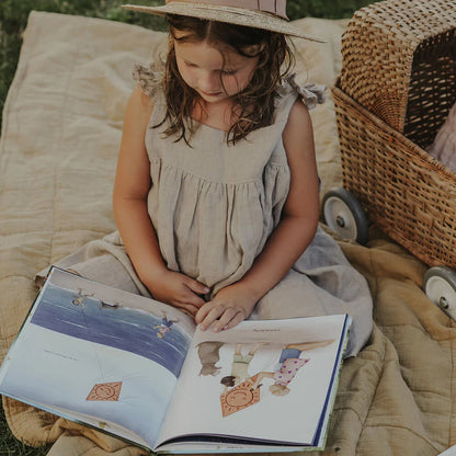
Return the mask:
[[387, 0], [358, 10], [342, 37], [340, 88], [428, 146], [456, 100], [456, 0]]

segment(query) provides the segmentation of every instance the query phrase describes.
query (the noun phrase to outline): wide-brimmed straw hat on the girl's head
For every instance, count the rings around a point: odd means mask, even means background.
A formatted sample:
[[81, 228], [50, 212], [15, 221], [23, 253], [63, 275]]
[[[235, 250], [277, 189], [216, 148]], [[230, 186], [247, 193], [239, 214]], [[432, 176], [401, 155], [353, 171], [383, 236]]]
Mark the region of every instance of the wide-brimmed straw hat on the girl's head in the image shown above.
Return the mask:
[[286, 0], [166, 0], [164, 7], [123, 4], [122, 8], [148, 14], [180, 14], [228, 22], [324, 43], [323, 39], [305, 35], [289, 24]]

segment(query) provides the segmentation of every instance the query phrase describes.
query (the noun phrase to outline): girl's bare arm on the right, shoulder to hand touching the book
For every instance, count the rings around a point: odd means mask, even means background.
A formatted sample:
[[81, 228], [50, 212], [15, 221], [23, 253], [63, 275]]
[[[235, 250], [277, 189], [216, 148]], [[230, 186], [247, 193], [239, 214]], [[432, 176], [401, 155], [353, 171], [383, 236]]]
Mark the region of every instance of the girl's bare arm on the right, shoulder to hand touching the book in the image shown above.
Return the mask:
[[319, 183], [311, 121], [300, 101], [292, 107], [283, 142], [290, 187], [281, 221], [251, 270], [200, 309], [196, 322], [203, 330], [213, 322], [215, 331], [232, 328], [248, 318], [255, 304], [284, 277], [314, 239], [319, 218]]

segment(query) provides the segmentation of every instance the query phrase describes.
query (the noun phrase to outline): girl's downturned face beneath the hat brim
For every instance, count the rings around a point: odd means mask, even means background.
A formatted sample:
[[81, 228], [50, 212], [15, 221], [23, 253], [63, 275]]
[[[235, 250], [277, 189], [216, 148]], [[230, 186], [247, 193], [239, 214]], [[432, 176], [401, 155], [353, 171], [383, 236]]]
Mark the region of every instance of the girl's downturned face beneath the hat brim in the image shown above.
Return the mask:
[[[176, 38], [185, 35], [175, 32]], [[182, 79], [207, 103], [227, 100], [246, 89], [258, 64], [258, 57], [246, 57], [229, 48], [221, 54], [206, 41], [174, 39], [174, 49]]]

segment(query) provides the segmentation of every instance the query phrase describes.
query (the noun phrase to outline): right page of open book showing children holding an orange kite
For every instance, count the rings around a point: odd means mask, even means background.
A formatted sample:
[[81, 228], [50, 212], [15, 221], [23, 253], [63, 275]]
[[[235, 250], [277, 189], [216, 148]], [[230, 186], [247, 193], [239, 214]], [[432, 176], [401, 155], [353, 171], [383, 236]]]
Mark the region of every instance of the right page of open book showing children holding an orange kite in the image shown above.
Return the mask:
[[197, 329], [160, 442], [213, 434], [320, 444], [345, 323], [327, 316]]

